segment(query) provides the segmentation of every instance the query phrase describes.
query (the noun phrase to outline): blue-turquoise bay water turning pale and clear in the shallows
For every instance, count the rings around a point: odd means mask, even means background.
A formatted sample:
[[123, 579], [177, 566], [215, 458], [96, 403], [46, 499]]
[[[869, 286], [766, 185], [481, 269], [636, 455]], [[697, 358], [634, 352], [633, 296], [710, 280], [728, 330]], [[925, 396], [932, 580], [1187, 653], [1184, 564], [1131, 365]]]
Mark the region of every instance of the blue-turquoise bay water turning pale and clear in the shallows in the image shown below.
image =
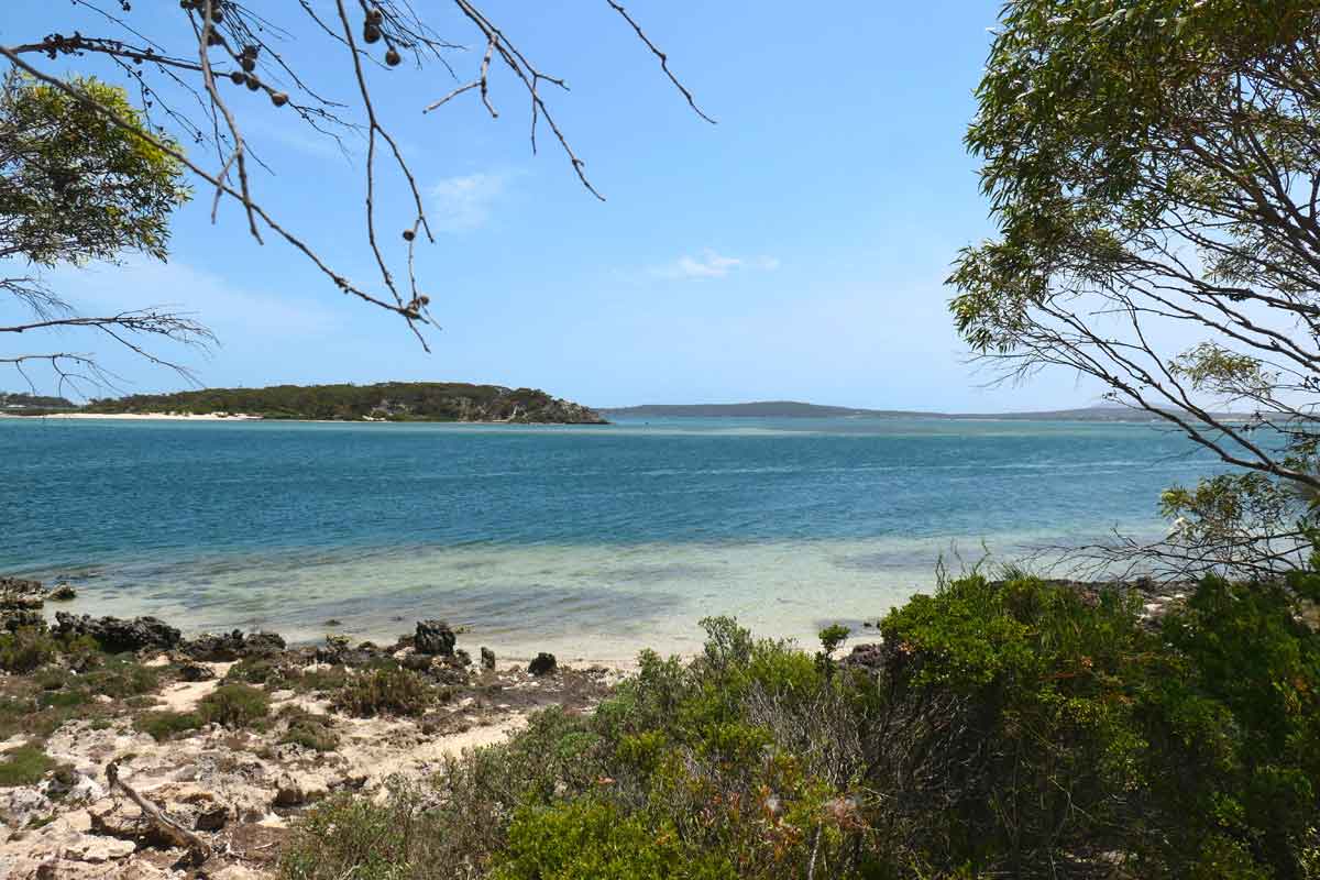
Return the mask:
[[1213, 464], [1146, 425], [672, 420], [583, 427], [0, 420], [0, 571], [75, 611], [508, 656], [689, 649], [735, 613], [808, 637], [974, 561], [1156, 534]]

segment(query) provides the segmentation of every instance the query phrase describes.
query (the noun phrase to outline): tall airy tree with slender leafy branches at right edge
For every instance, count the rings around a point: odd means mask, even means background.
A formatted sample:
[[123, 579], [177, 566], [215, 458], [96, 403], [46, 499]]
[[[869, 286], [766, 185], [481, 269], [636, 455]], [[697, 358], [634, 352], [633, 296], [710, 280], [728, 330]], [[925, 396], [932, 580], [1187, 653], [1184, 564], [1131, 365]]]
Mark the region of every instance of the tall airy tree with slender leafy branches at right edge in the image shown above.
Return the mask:
[[[968, 131], [998, 235], [950, 310], [999, 379], [1064, 368], [1229, 472], [1164, 570], [1295, 566], [1320, 492], [1320, 4], [1010, 0]], [[1241, 417], [1225, 417], [1224, 410]]]

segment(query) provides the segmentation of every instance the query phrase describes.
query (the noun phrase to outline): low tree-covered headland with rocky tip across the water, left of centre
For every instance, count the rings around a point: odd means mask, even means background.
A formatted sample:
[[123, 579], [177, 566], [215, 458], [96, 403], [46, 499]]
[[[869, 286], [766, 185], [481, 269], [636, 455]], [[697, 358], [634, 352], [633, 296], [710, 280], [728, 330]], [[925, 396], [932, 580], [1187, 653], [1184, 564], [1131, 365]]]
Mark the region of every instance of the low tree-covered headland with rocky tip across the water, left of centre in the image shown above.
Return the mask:
[[552, 397], [536, 388], [467, 383], [206, 388], [173, 394], [94, 400], [83, 412], [191, 416], [228, 413], [334, 421], [605, 424], [595, 410]]

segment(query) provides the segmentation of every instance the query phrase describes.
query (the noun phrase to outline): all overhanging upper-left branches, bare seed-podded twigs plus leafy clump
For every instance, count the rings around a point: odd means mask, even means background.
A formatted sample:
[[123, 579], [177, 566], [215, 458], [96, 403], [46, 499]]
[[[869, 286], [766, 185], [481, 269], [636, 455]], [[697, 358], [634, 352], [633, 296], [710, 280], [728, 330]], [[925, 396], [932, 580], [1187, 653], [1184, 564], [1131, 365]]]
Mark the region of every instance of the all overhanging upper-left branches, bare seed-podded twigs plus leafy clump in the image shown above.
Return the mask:
[[[692, 110], [713, 121], [632, 13], [616, 0], [603, 0], [601, 9], [618, 18], [623, 36], [640, 41]], [[292, 248], [331, 289], [397, 315], [426, 347], [425, 330], [434, 323], [426, 290], [437, 280], [418, 277], [414, 257], [420, 245], [434, 244], [434, 235], [418, 174], [393, 135], [397, 120], [374, 98], [374, 84], [392, 77], [421, 75], [436, 83], [433, 99], [411, 112], [432, 113], [471, 100], [495, 117], [495, 74], [503, 70], [504, 82], [521, 92], [532, 149], [549, 140], [582, 186], [603, 199], [556, 119], [553, 99], [568, 91], [568, 83], [541, 69], [474, 0], [428, 4], [425, 13], [409, 0], [70, 0], [49, 5], [44, 15], [44, 33], [0, 44], [0, 63], [9, 67], [0, 111], [16, 124], [32, 113], [40, 117], [34, 129], [5, 129], [22, 149], [0, 152], [0, 235], [20, 234], [0, 239], [0, 259], [28, 264], [7, 273], [12, 277], [0, 286], [0, 297], [9, 294], [11, 302], [32, 311], [30, 321], [0, 332], [95, 329], [153, 360], [157, 356], [140, 343], [143, 335], [210, 342], [205, 327], [177, 313], [77, 314], [28, 270], [129, 251], [164, 259], [169, 214], [186, 197], [186, 181], [210, 199], [213, 220], [222, 202], [236, 203], [255, 243], [275, 240]], [[315, 70], [294, 57], [315, 57]], [[86, 75], [92, 71], [102, 80]], [[341, 92], [352, 99], [327, 96]], [[289, 128], [341, 146], [346, 136], [364, 141], [366, 154], [358, 162], [364, 199], [352, 194], [346, 208], [360, 211], [372, 277], [351, 277], [325, 243], [298, 230], [286, 204], [265, 197], [263, 161], [248, 137], [252, 99], [269, 102]], [[75, 142], [69, 137], [75, 129], [88, 137]], [[70, 145], [82, 152], [69, 154]], [[110, 154], [98, 148], [106, 145], [129, 161], [104, 168]], [[0, 150], [8, 146], [0, 144]], [[45, 158], [61, 150], [62, 166], [46, 168]], [[114, 178], [108, 189], [107, 173]], [[405, 216], [381, 216], [387, 187], [407, 193]], [[111, 216], [115, 222], [103, 223]], [[40, 235], [51, 240], [25, 247], [21, 235], [37, 234], [42, 224]], [[107, 379], [86, 354], [5, 354], [0, 363], [37, 360], [62, 381], [79, 375]]]

